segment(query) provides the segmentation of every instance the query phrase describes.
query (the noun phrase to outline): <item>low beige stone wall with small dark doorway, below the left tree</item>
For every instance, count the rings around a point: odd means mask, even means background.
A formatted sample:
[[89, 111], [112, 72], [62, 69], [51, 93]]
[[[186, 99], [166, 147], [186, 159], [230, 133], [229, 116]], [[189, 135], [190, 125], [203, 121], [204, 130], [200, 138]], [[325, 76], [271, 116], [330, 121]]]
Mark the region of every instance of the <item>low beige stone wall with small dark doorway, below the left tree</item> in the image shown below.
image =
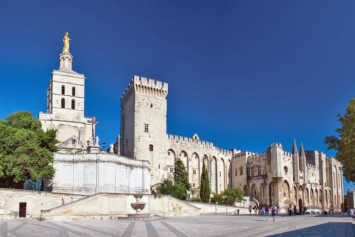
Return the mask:
[[0, 220], [18, 219], [19, 203], [26, 203], [26, 218], [39, 219], [42, 209], [49, 209], [86, 197], [67, 193], [36, 192], [19, 189], [0, 188]]

